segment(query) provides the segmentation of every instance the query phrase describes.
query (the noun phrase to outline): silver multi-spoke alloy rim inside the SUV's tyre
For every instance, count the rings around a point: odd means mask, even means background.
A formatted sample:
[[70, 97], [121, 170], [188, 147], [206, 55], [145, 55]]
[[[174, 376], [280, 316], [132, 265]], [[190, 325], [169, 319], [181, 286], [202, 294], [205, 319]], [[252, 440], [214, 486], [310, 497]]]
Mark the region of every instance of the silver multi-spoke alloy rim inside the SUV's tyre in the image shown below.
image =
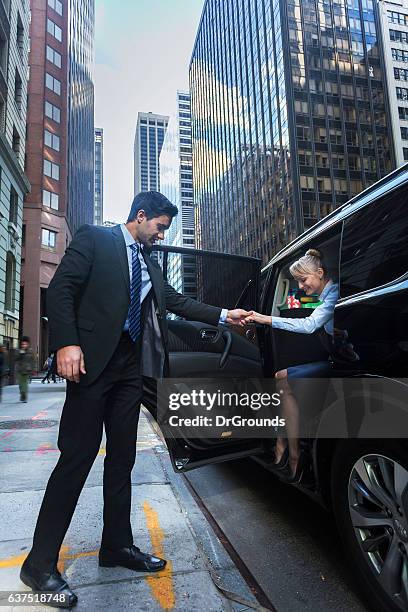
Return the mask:
[[364, 455], [348, 486], [350, 518], [363, 557], [401, 610], [408, 609], [408, 471], [384, 455]]

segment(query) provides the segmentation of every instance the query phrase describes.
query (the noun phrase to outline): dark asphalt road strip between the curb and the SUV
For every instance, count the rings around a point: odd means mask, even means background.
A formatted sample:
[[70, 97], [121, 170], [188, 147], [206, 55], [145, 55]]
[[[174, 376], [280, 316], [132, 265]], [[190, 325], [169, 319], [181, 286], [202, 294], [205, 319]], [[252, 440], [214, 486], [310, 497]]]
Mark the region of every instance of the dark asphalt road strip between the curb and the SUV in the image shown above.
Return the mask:
[[333, 517], [251, 460], [188, 481], [278, 612], [363, 612]]

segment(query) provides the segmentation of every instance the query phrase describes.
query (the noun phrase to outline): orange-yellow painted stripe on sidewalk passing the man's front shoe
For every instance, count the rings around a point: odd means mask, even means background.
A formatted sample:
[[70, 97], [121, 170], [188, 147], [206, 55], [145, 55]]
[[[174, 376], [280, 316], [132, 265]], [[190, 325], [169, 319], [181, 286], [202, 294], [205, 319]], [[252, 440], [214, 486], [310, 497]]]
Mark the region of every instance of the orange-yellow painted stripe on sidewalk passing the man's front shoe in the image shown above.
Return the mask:
[[[163, 558], [165, 536], [163, 529], [160, 527], [159, 515], [147, 501], [143, 503], [143, 511], [152, 541], [153, 554], [156, 557]], [[173, 567], [171, 561], [167, 561], [166, 567], [157, 576], [147, 576], [146, 580], [153, 597], [158, 601], [162, 609], [172, 610], [176, 604], [176, 595], [173, 587]]]

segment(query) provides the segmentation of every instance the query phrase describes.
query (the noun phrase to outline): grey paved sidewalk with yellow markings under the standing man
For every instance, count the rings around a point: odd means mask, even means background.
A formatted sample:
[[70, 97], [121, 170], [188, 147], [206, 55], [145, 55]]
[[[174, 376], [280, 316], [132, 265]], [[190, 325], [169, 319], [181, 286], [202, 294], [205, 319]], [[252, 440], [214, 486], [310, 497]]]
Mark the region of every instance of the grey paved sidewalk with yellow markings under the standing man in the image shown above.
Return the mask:
[[[3, 389], [0, 591], [29, 590], [20, 582], [19, 571], [31, 546], [44, 488], [58, 459], [56, 439], [64, 391], [64, 383], [41, 385], [35, 381], [30, 385], [28, 403], [23, 404], [18, 401], [17, 387]], [[75, 609], [247, 610], [245, 605], [232, 604], [216, 588], [210, 566], [225, 577], [228, 590], [232, 585], [241, 597], [254, 601], [206, 519], [183, 488], [181, 477], [169, 476], [167, 451], [143, 412], [132, 473], [133, 534], [141, 550], [165, 557], [168, 564], [163, 572], [150, 575], [125, 568], [99, 568], [104, 455], [103, 441], [60, 555], [59, 567], [78, 594]], [[40, 606], [3, 609], [50, 610]]]

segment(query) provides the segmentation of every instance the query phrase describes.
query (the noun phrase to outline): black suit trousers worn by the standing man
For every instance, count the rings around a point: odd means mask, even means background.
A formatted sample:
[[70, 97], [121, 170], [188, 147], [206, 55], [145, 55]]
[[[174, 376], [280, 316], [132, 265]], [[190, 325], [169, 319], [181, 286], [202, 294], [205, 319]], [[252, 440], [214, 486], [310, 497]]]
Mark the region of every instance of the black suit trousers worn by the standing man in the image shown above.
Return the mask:
[[[85, 364], [86, 367], [86, 364]], [[30, 562], [52, 570], [106, 432], [103, 473], [102, 546], [115, 549], [133, 544], [130, 525], [131, 471], [136, 456], [142, 383], [140, 346], [123, 334], [112, 359], [88, 387], [67, 383], [58, 435], [59, 461], [45, 491]]]

